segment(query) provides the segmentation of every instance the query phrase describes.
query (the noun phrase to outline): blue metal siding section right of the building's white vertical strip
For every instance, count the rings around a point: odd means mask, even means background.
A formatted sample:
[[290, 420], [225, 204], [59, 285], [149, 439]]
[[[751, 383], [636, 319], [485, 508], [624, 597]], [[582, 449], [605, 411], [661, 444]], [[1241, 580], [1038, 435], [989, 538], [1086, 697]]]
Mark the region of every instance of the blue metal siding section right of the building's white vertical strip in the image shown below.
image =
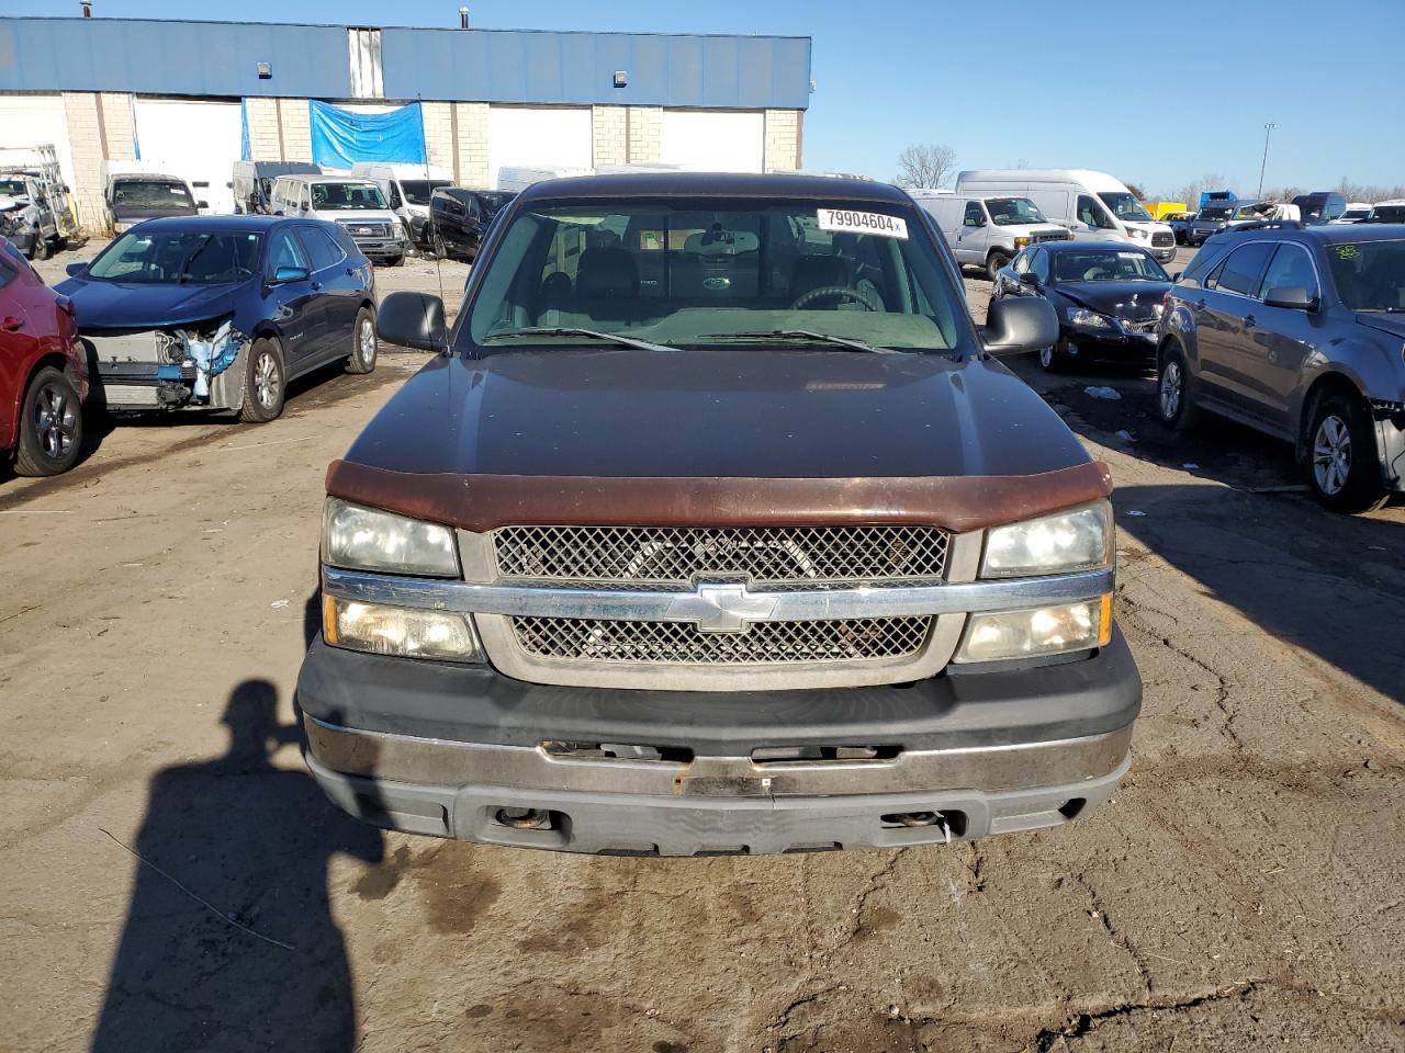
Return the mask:
[[[809, 38], [382, 29], [389, 98], [804, 110]], [[628, 72], [615, 88], [614, 72]]]

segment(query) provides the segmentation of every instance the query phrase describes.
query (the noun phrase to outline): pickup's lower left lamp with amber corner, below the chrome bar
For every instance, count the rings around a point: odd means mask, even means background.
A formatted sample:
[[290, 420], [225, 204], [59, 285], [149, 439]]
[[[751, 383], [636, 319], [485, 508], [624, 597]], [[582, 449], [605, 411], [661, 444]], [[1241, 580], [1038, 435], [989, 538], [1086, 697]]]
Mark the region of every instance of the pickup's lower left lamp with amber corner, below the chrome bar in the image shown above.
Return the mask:
[[483, 661], [466, 615], [322, 597], [322, 637], [333, 647], [400, 658]]

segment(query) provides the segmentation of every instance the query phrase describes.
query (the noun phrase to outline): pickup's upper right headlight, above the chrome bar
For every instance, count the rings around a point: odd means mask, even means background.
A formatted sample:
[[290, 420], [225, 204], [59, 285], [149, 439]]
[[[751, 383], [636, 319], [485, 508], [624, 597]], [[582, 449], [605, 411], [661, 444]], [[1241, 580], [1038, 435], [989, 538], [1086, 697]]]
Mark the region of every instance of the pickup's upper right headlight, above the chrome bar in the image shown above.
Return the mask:
[[981, 577], [1065, 574], [1113, 562], [1113, 507], [1107, 501], [996, 526], [985, 539]]

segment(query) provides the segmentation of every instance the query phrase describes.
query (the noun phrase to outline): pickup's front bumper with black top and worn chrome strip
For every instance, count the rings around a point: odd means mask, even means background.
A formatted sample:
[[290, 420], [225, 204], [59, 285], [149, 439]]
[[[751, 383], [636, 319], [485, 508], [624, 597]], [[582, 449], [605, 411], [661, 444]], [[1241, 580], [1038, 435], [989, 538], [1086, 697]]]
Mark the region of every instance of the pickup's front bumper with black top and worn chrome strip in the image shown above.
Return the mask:
[[[538, 685], [319, 640], [298, 705], [313, 776], [381, 826], [576, 852], [760, 854], [1066, 823], [1125, 774], [1141, 681], [1120, 635], [1048, 665], [781, 692]], [[753, 760], [823, 746], [881, 758]], [[541, 826], [503, 821], [520, 810]]]

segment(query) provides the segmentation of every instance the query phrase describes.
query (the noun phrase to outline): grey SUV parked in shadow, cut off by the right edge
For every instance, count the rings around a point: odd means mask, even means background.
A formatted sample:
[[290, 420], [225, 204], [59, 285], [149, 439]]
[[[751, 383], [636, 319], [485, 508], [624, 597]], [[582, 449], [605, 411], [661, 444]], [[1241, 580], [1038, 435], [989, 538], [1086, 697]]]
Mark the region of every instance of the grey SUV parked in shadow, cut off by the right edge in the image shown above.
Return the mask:
[[1297, 446], [1325, 505], [1405, 490], [1405, 226], [1232, 230], [1166, 293], [1158, 407], [1200, 409]]

